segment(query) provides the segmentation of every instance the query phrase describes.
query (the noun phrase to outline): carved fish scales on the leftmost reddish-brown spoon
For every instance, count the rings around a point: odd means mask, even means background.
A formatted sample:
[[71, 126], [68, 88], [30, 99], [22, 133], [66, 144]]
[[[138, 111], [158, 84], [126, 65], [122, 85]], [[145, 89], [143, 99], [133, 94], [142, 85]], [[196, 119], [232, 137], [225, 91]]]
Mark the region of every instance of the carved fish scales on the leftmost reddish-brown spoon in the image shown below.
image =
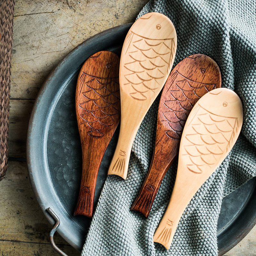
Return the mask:
[[87, 126], [89, 136], [101, 138], [120, 115], [118, 77], [101, 78], [83, 72], [80, 82], [83, 95], [79, 103], [80, 124]]

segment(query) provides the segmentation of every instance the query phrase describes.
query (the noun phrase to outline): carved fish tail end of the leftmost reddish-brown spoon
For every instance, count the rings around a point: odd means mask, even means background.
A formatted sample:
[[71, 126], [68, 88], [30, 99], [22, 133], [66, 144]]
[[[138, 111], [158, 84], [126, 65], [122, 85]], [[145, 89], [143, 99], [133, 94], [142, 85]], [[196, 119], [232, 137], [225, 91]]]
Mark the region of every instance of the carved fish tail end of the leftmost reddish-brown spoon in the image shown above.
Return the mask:
[[86, 190], [80, 191], [79, 200], [76, 204], [74, 215], [84, 215], [92, 217], [93, 199], [90, 192]]

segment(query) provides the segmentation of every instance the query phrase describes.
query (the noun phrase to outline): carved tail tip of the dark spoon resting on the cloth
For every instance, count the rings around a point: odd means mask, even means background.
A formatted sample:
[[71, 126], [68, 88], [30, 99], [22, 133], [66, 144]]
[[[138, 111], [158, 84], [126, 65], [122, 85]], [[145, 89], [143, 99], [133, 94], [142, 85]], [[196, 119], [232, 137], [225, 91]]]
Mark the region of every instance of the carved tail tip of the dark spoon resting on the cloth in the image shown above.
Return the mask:
[[131, 206], [131, 210], [142, 213], [146, 218], [150, 213], [152, 204], [156, 197], [154, 190], [144, 188]]

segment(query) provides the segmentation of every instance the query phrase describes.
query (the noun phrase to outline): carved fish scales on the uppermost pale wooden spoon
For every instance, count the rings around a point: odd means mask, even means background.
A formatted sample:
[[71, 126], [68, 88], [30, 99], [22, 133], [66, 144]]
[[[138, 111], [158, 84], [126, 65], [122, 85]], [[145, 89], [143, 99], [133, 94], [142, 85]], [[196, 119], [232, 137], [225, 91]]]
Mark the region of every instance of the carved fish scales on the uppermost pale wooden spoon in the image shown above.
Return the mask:
[[[147, 100], [162, 85], [175, 57], [173, 38], [150, 39], [129, 32], [125, 52], [124, 86], [136, 100]], [[161, 63], [161, 64], [160, 64]]]

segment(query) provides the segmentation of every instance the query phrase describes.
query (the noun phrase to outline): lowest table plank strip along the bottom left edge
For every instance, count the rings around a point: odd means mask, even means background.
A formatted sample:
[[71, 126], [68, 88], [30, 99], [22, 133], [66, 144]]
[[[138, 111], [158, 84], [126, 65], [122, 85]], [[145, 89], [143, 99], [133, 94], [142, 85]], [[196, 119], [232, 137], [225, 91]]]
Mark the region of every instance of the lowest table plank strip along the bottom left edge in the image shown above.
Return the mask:
[[[60, 245], [59, 248], [69, 256], [80, 255], [70, 245]], [[60, 256], [50, 244], [22, 243], [14, 241], [0, 241], [1, 256]]]

